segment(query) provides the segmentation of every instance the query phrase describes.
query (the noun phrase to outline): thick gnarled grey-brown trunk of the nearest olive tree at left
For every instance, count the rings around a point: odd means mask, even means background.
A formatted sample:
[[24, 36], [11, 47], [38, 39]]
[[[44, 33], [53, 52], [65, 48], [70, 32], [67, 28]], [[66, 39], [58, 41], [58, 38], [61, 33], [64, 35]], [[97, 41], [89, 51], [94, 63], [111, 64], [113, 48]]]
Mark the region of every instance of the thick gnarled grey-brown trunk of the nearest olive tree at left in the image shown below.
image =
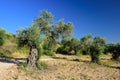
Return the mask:
[[30, 47], [30, 53], [27, 58], [27, 69], [29, 70], [36, 70], [37, 69], [37, 57], [38, 57], [38, 50], [36, 47]]

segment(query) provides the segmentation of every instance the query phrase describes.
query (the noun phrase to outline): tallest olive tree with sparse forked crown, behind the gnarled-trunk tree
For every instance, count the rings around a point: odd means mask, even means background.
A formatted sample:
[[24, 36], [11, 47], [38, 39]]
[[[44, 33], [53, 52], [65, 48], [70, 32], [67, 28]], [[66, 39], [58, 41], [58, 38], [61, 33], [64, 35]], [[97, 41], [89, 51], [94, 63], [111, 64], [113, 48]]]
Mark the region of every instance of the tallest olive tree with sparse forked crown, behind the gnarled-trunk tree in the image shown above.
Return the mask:
[[48, 11], [41, 11], [40, 15], [34, 20], [34, 25], [39, 27], [42, 37], [44, 37], [43, 47], [50, 51], [55, 49], [59, 39], [63, 40], [70, 36], [73, 29], [70, 22], [65, 23], [60, 20], [54, 23], [53, 15]]

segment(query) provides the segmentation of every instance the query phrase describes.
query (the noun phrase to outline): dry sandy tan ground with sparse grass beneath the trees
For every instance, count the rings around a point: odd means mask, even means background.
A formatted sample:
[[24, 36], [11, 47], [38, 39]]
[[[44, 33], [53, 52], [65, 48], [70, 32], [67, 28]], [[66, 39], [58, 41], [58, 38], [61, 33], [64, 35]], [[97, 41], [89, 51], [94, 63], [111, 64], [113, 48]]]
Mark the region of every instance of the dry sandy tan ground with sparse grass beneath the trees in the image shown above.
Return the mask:
[[103, 56], [103, 65], [90, 63], [89, 56], [43, 56], [48, 68], [39, 71], [21, 70], [14, 63], [0, 62], [0, 80], [120, 80], [120, 62]]

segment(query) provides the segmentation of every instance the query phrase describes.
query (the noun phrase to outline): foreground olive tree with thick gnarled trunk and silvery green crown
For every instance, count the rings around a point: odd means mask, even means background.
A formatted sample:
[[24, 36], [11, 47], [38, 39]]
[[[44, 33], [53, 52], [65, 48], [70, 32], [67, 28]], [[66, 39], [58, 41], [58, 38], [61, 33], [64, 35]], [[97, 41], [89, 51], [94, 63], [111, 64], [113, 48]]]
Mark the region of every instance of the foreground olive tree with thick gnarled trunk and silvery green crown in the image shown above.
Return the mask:
[[18, 46], [28, 46], [30, 48], [27, 58], [27, 69], [37, 69], [37, 60], [39, 59], [40, 31], [39, 27], [30, 26], [17, 31]]

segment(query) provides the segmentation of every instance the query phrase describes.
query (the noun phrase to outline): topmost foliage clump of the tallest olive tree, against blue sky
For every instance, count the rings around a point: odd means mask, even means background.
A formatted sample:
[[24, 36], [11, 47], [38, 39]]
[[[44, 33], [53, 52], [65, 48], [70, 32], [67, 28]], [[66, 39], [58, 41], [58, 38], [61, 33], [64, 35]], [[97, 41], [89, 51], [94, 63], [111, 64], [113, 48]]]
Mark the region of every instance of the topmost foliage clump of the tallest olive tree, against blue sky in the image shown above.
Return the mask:
[[34, 20], [34, 25], [39, 27], [42, 35], [49, 34], [52, 28], [53, 15], [48, 11], [41, 11], [40, 15]]

